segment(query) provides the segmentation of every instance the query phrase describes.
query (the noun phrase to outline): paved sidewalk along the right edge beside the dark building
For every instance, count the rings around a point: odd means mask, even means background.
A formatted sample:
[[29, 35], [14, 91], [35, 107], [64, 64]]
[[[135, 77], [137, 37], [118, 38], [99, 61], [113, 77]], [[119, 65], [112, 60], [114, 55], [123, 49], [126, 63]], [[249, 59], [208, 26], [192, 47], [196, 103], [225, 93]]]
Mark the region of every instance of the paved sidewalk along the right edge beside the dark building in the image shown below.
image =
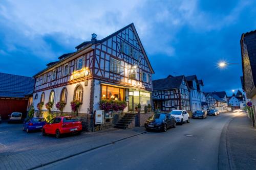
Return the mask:
[[229, 123], [226, 140], [231, 169], [256, 168], [256, 129], [245, 113]]

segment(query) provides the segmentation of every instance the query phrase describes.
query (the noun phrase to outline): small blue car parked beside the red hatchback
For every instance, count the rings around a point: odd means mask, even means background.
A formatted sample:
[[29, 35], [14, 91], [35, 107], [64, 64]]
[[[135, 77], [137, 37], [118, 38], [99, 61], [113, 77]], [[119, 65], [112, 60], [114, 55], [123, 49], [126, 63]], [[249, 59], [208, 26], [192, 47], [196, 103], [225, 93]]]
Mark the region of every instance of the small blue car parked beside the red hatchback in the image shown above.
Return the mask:
[[27, 133], [31, 131], [41, 130], [45, 124], [46, 124], [45, 118], [42, 118], [42, 117], [29, 118], [23, 124], [23, 130], [26, 131]]

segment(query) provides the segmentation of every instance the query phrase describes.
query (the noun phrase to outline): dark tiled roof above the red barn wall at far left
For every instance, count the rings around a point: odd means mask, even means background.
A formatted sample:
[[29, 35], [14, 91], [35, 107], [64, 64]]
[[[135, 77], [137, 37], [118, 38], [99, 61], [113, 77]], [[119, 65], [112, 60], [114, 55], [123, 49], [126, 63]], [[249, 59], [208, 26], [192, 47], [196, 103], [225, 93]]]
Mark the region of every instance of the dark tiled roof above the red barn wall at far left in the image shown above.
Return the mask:
[[0, 72], [0, 96], [24, 98], [33, 93], [35, 80], [31, 77], [10, 75]]

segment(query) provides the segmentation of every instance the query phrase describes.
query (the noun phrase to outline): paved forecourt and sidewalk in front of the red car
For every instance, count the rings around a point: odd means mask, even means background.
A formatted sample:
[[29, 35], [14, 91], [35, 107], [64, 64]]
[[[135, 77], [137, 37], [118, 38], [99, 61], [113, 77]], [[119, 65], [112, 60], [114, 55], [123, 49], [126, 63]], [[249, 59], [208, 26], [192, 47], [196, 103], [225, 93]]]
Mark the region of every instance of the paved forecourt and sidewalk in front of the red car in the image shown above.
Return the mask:
[[[0, 152], [0, 169], [30, 169], [56, 160], [89, 151], [97, 147], [113, 144], [115, 141], [145, 133], [144, 128], [112, 130], [98, 133], [83, 133], [81, 139], [59, 143], [19, 152]], [[46, 136], [51, 137], [51, 136]], [[43, 138], [43, 137], [42, 137]], [[30, 141], [33, 142], [33, 141]], [[28, 143], [29, 144], [29, 143]], [[0, 150], [1, 151], [1, 150]], [[3, 150], [2, 150], [3, 151]]]

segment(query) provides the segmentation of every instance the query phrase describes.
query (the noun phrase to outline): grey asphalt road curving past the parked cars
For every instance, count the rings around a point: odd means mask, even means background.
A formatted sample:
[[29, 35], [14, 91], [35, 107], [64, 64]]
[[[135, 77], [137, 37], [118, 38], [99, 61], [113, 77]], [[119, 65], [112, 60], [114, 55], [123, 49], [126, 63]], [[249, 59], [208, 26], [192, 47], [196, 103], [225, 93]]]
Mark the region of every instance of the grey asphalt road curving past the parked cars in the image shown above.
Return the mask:
[[218, 169], [222, 129], [238, 114], [193, 119], [167, 132], [141, 134], [42, 169]]

